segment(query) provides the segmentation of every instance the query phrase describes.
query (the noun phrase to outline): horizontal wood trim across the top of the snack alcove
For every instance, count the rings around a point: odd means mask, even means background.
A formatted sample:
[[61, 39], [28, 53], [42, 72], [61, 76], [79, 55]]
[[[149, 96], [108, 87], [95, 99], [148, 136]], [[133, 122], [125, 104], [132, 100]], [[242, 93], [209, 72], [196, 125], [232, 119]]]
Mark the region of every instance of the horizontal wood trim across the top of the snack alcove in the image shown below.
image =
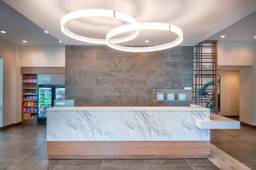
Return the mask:
[[65, 74], [65, 67], [20, 67], [21, 74]]

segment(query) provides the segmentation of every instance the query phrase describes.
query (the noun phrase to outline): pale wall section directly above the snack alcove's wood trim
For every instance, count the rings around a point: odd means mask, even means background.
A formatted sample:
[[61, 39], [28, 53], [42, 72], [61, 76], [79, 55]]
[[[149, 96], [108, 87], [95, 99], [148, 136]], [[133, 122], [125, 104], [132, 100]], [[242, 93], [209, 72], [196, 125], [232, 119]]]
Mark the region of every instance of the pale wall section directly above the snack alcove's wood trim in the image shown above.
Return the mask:
[[65, 45], [20, 46], [20, 66], [65, 67]]

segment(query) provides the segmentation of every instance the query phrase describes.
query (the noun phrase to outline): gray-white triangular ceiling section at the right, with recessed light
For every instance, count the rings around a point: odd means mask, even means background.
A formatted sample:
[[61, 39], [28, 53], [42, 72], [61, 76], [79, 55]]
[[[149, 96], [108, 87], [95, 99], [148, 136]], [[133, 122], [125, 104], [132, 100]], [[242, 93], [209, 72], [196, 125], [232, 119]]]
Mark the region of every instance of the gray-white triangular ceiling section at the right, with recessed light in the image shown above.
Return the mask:
[[[225, 35], [221, 38], [221, 35]], [[239, 20], [228, 28], [208, 38], [221, 41], [255, 41], [256, 38], [256, 12]]]

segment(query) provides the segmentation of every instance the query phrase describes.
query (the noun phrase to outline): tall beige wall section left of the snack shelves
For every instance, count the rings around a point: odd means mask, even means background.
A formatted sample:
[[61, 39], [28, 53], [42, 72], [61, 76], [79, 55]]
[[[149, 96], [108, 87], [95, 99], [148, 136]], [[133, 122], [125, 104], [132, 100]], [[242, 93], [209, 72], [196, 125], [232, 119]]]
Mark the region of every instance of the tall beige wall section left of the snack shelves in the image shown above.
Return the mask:
[[[20, 122], [21, 88], [19, 46], [0, 39], [0, 56], [4, 60], [3, 126]], [[19, 108], [19, 109], [18, 109]]]

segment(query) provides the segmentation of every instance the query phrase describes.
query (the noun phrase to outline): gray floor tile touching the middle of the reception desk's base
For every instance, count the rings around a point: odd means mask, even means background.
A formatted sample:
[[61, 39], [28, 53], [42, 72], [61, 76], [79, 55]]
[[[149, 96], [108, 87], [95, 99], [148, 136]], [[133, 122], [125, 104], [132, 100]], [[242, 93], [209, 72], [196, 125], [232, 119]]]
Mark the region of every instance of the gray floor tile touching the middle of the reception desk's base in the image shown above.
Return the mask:
[[126, 165], [141, 165], [145, 166], [144, 159], [104, 159], [103, 166], [126, 166]]

